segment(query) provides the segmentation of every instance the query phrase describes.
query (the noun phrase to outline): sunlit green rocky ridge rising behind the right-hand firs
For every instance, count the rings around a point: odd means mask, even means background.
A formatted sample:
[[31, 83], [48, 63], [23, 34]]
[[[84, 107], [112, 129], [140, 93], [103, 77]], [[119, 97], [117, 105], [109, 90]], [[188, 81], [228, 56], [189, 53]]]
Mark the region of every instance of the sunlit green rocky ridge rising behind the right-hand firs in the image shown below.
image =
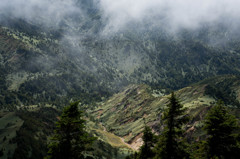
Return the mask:
[[[228, 90], [224, 89], [225, 85]], [[214, 93], [209, 94], [208, 89], [212, 87], [216, 89], [216, 92], [224, 90], [231, 91], [231, 93], [222, 92], [223, 98]], [[204, 135], [201, 130], [204, 116], [219, 99], [226, 99], [225, 103], [239, 117], [239, 90], [239, 76], [219, 76], [176, 91], [177, 97], [188, 108], [187, 114], [191, 117], [186, 125], [188, 138], [195, 140]], [[161, 114], [168, 103], [168, 97], [169, 95], [154, 91], [147, 85], [131, 85], [106, 102], [99, 104], [93, 113], [107, 128], [107, 131], [123, 137], [130, 145], [138, 148], [141, 145], [145, 124], [151, 126], [156, 133], [161, 130]], [[234, 103], [229, 103], [229, 101], [234, 101]]]

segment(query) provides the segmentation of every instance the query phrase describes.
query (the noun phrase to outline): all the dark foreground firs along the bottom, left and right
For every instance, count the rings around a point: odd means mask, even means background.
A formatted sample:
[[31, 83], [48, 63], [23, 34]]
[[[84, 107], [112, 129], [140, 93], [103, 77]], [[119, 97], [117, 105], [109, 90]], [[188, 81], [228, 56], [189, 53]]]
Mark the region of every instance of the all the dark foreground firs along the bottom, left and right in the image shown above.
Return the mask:
[[[145, 126], [143, 145], [126, 159], [237, 159], [240, 155], [239, 124], [235, 116], [222, 102], [207, 113], [203, 130], [206, 139], [189, 144], [184, 125], [190, 116], [174, 93], [169, 97], [167, 109], [162, 115], [163, 130], [155, 135]], [[83, 112], [78, 103], [65, 107], [56, 124], [54, 136], [45, 159], [84, 159], [89, 156], [91, 144], [96, 140], [85, 130]]]

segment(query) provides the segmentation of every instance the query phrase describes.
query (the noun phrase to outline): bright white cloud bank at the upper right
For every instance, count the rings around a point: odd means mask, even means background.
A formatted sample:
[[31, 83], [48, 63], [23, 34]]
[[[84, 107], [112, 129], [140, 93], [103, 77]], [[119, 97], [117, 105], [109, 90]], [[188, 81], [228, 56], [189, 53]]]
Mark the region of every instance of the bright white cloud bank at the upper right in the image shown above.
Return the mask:
[[171, 30], [195, 29], [205, 23], [236, 23], [239, 0], [100, 0], [106, 29], [119, 31], [133, 22]]

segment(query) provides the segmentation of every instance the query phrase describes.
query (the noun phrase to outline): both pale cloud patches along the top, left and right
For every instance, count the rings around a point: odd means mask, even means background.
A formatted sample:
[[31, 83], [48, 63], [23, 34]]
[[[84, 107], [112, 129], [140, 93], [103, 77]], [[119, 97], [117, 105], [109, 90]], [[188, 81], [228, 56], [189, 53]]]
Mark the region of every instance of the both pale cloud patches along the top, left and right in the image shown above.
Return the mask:
[[[38, 15], [43, 23], [60, 21], [69, 13], [82, 14], [76, 0], [1, 0], [0, 12], [34, 21]], [[88, 1], [88, 0], [86, 0]], [[172, 29], [197, 28], [200, 24], [232, 20], [238, 23], [240, 0], [94, 0], [99, 1], [105, 29], [118, 31], [132, 22], [161, 24]]]

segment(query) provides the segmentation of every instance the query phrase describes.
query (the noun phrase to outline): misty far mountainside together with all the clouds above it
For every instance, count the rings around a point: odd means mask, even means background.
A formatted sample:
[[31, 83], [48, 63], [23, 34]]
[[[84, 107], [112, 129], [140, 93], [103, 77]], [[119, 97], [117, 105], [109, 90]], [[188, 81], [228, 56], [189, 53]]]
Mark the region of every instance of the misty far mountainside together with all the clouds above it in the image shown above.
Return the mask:
[[[20, 90], [51, 102], [46, 91], [55, 101], [101, 99], [132, 83], [176, 90], [216, 75], [238, 75], [238, 4], [2, 0], [0, 66], [6, 94]], [[9, 46], [8, 40], [23, 48]]]

